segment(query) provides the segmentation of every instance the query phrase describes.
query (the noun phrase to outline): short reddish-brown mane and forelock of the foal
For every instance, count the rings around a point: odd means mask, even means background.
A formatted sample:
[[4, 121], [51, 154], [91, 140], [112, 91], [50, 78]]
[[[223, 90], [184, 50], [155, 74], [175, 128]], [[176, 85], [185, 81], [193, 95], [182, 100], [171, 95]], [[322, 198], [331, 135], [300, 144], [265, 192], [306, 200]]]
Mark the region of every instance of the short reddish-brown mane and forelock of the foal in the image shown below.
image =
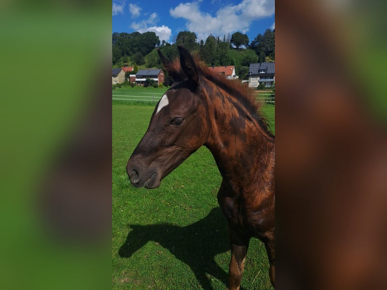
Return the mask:
[[[215, 73], [211, 68], [202, 62], [198, 55], [193, 56], [195, 64], [199, 70], [199, 74], [209, 80], [210, 82], [216, 84], [218, 87], [222, 88], [225, 92], [235, 97], [235, 99], [245, 107], [250, 114], [258, 121], [260, 127], [271, 137], [274, 137], [273, 133], [270, 131], [270, 125], [264, 117], [261, 108], [262, 102], [257, 102], [253, 96], [252, 89], [242, 85], [237, 80], [229, 80], [225, 78], [224, 75]], [[186, 79], [179, 59], [176, 59], [173, 62], [168, 64], [166, 70], [169, 72], [171, 77], [176, 81], [181, 81]]]

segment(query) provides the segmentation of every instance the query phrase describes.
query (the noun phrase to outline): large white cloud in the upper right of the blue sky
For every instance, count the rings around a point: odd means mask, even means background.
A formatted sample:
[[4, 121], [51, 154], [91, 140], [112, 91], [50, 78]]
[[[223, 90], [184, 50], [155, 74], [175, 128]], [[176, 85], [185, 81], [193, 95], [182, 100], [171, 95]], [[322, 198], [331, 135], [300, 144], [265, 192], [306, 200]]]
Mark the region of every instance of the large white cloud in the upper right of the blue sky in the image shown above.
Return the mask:
[[198, 2], [180, 3], [169, 13], [174, 18], [184, 18], [189, 31], [195, 31], [198, 40], [208, 35], [227, 35], [235, 31], [246, 33], [252, 21], [274, 14], [274, 0], [243, 0], [240, 4], [226, 6], [213, 17], [200, 11]]

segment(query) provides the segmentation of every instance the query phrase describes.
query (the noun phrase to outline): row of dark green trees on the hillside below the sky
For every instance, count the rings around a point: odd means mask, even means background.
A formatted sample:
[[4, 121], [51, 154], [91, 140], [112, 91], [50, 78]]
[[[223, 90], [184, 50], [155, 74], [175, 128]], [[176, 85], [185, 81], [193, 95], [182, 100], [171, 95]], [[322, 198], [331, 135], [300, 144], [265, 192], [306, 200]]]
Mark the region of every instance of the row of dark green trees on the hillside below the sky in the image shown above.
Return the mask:
[[272, 62], [275, 60], [275, 31], [267, 29], [252, 41], [246, 34], [235, 32], [223, 37], [210, 35], [205, 41], [197, 41], [195, 32], [181, 31], [173, 44], [160, 42], [154, 32], [118, 33], [112, 35], [113, 66], [130, 64], [131, 66], [159, 67], [161, 62], [155, 47], [173, 60], [178, 57], [177, 44], [182, 44], [193, 53], [199, 53], [209, 66], [234, 65], [239, 78], [246, 78], [250, 63]]

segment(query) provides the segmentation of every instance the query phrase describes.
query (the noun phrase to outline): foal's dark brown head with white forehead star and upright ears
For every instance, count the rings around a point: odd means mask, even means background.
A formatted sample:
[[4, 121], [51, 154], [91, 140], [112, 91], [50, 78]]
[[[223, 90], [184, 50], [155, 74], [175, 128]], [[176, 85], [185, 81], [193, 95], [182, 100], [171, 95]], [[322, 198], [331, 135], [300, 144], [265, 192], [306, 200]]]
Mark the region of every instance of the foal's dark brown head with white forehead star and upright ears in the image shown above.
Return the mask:
[[181, 69], [159, 51], [164, 67], [177, 82], [157, 104], [147, 132], [127, 163], [126, 171], [136, 187], [158, 187], [161, 179], [198, 150], [208, 136], [198, 68], [189, 52], [178, 47]]

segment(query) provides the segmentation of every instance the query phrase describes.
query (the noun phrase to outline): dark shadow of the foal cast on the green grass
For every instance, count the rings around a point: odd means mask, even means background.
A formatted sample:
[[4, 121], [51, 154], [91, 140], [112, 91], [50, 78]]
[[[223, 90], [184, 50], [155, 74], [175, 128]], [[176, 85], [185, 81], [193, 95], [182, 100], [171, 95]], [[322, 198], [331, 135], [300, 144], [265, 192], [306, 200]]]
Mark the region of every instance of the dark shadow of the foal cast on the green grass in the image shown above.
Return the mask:
[[130, 258], [153, 240], [188, 265], [204, 289], [213, 289], [206, 273], [227, 284], [228, 273], [214, 259], [230, 250], [227, 222], [219, 207], [212, 209], [205, 218], [184, 227], [168, 223], [129, 227], [132, 230], [118, 252], [122, 258]]

